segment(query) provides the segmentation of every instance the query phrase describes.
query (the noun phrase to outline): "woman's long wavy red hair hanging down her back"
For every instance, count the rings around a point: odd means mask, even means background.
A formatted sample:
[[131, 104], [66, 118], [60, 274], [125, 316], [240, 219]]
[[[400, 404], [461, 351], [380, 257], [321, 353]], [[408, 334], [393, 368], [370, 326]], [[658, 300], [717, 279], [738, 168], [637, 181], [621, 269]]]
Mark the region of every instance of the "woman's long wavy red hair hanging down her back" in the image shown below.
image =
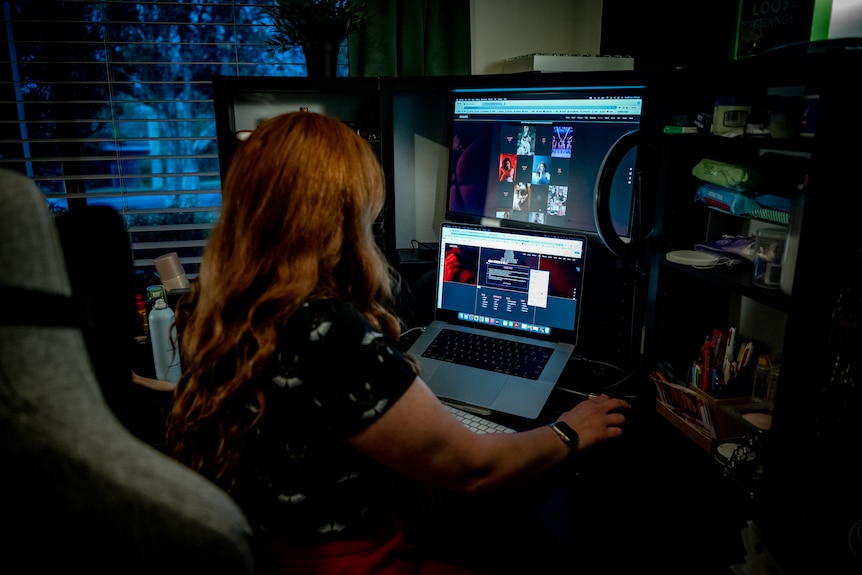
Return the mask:
[[[352, 302], [397, 338], [392, 273], [373, 224], [385, 200], [368, 142], [311, 112], [277, 116], [238, 145], [200, 274], [178, 305], [183, 375], [168, 421], [174, 458], [230, 489], [265, 412], [251, 385], [306, 301]], [[256, 405], [249, 418], [246, 405]]]

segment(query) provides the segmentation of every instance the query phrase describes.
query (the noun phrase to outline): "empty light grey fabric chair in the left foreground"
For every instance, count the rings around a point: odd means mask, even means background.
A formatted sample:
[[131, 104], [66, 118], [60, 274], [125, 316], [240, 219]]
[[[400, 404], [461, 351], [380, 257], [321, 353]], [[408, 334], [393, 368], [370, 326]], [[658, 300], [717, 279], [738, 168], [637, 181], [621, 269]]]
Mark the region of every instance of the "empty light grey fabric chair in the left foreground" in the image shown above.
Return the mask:
[[0, 569], [253, 573], [233, 500], [107, 405], [83, 336], [93, 314], [73, 297], [44, 197], [9, 170], [0, 294]]

